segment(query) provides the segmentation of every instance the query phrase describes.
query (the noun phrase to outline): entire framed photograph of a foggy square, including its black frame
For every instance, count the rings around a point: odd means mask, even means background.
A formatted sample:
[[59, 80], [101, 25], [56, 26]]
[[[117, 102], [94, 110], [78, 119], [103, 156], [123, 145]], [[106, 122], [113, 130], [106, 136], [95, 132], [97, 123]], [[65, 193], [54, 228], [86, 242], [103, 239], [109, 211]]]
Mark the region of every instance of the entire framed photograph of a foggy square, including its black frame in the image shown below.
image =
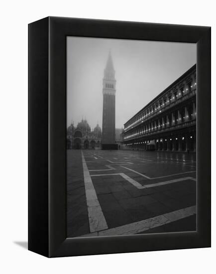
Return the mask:
[[211, 246], [211, 28], [29, 24], [29, 239], [46, 257]]

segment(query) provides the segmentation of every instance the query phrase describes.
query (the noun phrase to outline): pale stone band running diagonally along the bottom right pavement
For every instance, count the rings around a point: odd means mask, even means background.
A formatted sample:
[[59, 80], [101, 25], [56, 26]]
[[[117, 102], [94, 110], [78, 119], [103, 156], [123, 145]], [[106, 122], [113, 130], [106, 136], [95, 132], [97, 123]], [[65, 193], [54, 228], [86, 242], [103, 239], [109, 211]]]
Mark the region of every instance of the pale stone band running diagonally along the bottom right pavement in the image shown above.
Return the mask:
[[131, 224], [110, 228], [104, 231], [98, 231], [96, 233], [85, 234], [79, 237], [97, 237], [97, 236], [118, 236], [118, 235], [133, 235], [142, 233], [149, 229], [163, 226], [165, 224], [172, 223], [174, 221], [184, 219], [196, 214], [196, 206], [186, 207], [180, 210], [169, 212], [166, 214], [158, 215], [146, 220], [134, 222]]

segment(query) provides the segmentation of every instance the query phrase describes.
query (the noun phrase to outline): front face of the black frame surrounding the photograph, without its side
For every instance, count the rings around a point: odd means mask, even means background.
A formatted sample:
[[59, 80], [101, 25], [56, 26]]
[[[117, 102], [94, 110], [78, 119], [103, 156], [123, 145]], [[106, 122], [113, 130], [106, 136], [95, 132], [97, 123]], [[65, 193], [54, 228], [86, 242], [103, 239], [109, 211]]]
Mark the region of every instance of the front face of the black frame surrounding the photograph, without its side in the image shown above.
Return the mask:
[[[174, 28], [174, 29], [173, 29]], [[122, 31], [121, 31], [122, 30]], [[131, 30], [133, 30], [131, 32]], [[145, 31], [144, 31], [145, 30]], [[66, 36], [84, 36], [84, 37], [104, 37], [104, 38], [121, 38], [121, 39], [140, 39], [140, 40], [163, 40], [175, 42], [199, 42], [198, 55], [200, 54], [199, 73], [204, 72], [200, 82], [200, 90], [207, 92], [207, 98], [201, 96], [206, 102], [206, 107], [200, 100], [199, 106], [202, 111], [207, 112], [210, 116], [209, 103], [211, 102], [211, 86], [206, 84], [209, 80], [209, 72], [211, 71], [211, 53], [209, 50], [210, 37], [206, 35], [209, 31], [208, 27], [181, 26], [181, 25], [163, 25], [151, 23], [136, 22], [120, 22], [120, 21], [104, 21], [104, 20], [87, 20], [75, 18], [50, 17], [50, 257], [62, 256], [79, 256], [94, 254], [110, 254], [155, 250], [173, 250], [187, 248], [209, 247], [211, 239], [211, 213], [210, 202], [206, 202], [211, 193], [211, 175], [207, 176], [207, 187], [205, 188], [203, 178], [206, 172], [211, 171], [209, 163], [211, 163], [211, 145], [206, 148], [200, 146], [203, 159], [200, 163], [204, 163], [204, 167], [200, 166], [202, 187], [199, 190], [201, 198], [200, 217], [204, 217], [207, 223], [200, 222], [198, 232], [183, 232], [151, 234], [151, 235], [135, 235], [135, 236], [115, 236], [100, 238], [66, 238], [65, 230], [65, 171], [64, 160], [65, 137], [66, 132], [64, 125], [66, 113], [66, 60], [65, 43]], [[162, 38], [161, 38], [162, 37]], [[211, 80], [211, 78], [210, 78]], [[210, 84], [211, 85], [211, 84]], [[59, 100], [59, 101], [58, 101]], [[54, 127], [55, 122], [55, 127]], [[202, 136], [202, 141], [209, 141], [210, 122], [205, 127], [201, 120], [201, 125], [207, 130], [206, 138]], [[56, 131], [56, 128], [60, 129]], [[201, 129], [203, 131], [203, 129]], [[207, 157], [207, 158], [205, 158]], [[207, 160], [206, 160], [207, 159]], [[205, 180], [206, 178], [204, 178]], [[205, 216], [206, 214], [206, 216]]]

